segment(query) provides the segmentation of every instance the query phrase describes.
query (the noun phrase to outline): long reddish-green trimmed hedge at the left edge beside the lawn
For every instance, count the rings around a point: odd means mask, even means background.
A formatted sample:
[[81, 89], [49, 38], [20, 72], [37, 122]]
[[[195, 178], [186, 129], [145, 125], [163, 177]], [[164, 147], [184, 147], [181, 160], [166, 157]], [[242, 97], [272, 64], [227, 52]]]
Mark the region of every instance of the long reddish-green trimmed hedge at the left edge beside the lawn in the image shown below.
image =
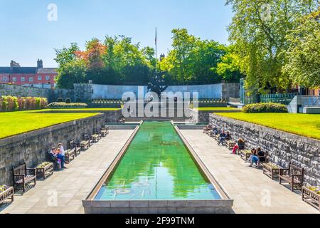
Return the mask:
[[36, 110], [46, 108], [47, 98], [17, 98], [14, 96], [0, 96], [0, 112], [22, 110]]

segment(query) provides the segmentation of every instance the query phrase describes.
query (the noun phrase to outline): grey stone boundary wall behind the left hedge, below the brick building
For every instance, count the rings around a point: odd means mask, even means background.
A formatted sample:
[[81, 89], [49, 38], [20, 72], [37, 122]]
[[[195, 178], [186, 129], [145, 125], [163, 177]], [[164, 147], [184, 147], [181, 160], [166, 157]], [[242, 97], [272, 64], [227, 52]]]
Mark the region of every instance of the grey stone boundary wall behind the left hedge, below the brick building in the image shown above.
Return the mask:
[[71, 100], [75, 100], [74, 90], [36, 88], [2, 83], [0, 83], [0, 95], [48, 98], [49, 103], [56, 101], [58, 98], [71, 98]]

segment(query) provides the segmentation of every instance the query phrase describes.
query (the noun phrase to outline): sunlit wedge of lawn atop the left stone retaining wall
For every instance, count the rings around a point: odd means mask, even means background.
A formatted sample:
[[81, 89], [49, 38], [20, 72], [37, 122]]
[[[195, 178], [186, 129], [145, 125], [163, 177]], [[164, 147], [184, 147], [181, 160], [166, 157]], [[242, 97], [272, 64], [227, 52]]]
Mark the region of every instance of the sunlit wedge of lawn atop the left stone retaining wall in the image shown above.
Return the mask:
[[23, 111], [0, 113], [0, 138], [46, 128], [59, 123], [87, 118], [98, 113], [38, 113]]

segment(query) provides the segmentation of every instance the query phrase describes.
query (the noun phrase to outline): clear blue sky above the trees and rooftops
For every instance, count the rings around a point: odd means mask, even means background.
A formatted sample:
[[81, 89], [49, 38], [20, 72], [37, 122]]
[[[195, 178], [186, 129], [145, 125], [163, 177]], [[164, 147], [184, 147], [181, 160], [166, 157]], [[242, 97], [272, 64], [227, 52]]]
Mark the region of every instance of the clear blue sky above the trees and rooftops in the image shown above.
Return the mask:
[[[58, 6], [58, 21], [48, 21], [49, 4]], [[82, 48], [107, 34], [154, 46], [155, 27], [159, 53], [171, 47], [172, 28], [228, 43], [231, 17], [225, 0], [0, 0], [0, 66], [11, 60], [35, 66], [42, 58], [45, 67], [55, 67], [54, 48], [71, 42]]]

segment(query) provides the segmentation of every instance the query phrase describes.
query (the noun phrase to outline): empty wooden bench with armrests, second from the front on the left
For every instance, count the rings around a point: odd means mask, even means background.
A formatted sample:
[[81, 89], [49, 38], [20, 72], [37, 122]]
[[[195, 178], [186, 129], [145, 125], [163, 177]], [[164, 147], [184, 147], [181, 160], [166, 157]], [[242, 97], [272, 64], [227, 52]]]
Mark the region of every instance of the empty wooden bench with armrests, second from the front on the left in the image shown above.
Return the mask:
[[14, 189], [17, 190], [17, 186], [22, 185], [23, 192], [26, 192], [26, 185], [30, 182], [34, 182], [34, 186], [36, 186], [36, 169], [29, 169], [26, 167], [26, 163], [23, 163], [12, 170], [14, 172]]

